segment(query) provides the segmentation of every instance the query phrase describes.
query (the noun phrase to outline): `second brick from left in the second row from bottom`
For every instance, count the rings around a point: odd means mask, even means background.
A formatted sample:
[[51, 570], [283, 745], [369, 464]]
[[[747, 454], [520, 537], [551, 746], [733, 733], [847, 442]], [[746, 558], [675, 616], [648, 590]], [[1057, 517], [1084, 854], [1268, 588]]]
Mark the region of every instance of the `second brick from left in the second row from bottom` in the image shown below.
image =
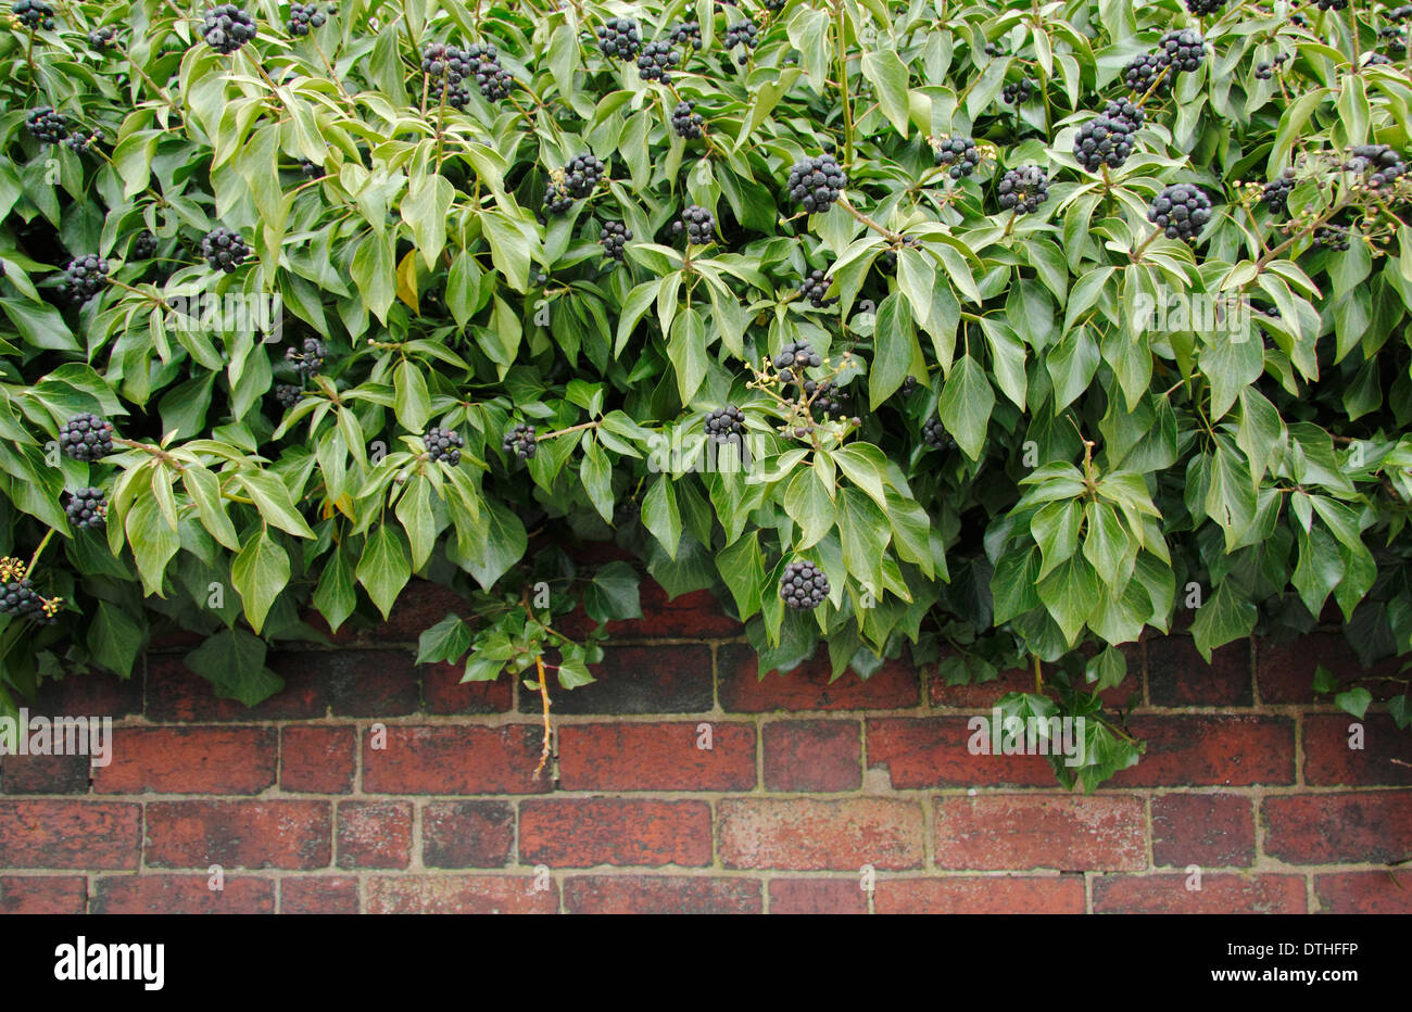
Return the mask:
[[147, 864], [157, 868], [323, 868], [326, 802], [151, 802]]

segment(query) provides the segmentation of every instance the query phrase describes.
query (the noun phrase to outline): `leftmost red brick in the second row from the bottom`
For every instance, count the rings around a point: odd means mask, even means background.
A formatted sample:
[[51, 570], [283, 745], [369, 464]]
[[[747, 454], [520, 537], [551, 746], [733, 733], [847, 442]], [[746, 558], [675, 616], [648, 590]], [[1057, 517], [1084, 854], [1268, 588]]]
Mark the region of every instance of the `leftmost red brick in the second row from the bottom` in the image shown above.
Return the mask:
[[0, 802], [8, 868], [137, 868], [143, 809], [126, 802]]

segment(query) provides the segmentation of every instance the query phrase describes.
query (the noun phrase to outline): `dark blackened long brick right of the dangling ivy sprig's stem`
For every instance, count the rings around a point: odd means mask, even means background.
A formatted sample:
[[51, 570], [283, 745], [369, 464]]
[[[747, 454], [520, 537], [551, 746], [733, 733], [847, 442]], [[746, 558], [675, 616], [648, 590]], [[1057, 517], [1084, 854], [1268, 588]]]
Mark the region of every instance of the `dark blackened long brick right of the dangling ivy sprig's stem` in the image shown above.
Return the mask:
[[[551, 689], [555, 713], [705, 713], [714, 704], [710, 648], [604, 646], [597, 679], [572, 692]], [[521, 692], [520, 711], [539, 713], [539, 693]]]

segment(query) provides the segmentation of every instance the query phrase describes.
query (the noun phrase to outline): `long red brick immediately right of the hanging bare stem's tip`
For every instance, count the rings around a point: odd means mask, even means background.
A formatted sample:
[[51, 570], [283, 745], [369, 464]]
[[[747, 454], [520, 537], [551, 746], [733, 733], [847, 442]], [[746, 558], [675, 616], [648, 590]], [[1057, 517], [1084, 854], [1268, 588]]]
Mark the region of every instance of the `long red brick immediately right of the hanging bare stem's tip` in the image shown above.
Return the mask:
[[559, 728], [561, 790], [751, 790], [755, 728], [700, 721], [565, 724]]

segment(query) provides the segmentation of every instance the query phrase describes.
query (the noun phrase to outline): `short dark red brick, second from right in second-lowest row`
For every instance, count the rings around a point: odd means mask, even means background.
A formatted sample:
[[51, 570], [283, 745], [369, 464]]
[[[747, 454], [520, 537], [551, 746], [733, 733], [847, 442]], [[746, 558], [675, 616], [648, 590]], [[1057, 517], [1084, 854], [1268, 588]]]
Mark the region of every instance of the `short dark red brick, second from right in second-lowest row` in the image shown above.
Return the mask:
[[1152, 860], [1185, 868], [1248, 867], [1255, 861], [1255, 812], [1240, 795], [1161, 795], [1152, 799]]

